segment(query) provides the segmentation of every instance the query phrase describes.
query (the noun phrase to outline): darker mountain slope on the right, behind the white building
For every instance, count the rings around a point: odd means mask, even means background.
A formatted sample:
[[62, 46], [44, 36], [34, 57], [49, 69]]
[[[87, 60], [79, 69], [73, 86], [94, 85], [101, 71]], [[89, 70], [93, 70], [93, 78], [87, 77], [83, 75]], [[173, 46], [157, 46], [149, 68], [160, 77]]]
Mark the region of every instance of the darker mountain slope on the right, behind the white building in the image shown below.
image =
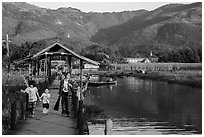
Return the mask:
[[123, 57], [148, 56], [182, 48], [202, 48], [202, 3], [169, 4], [99, 30], [93, 42]]

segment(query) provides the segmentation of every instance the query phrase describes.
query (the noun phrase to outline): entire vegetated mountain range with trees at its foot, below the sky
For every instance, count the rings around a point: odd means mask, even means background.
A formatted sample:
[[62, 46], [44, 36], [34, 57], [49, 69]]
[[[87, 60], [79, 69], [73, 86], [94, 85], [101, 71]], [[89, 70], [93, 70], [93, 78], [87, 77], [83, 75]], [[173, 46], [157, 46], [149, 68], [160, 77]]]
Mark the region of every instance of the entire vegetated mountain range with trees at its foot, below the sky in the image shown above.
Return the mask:
[[202, 61], [202, 3], [85, 13], [70, 7], [51, 10], [3, 2], [2, 15], [2, 36], [9, 34], [12, 59], [60, 42], [97, 61], [148, 57], [150, 52], [160, 62]]

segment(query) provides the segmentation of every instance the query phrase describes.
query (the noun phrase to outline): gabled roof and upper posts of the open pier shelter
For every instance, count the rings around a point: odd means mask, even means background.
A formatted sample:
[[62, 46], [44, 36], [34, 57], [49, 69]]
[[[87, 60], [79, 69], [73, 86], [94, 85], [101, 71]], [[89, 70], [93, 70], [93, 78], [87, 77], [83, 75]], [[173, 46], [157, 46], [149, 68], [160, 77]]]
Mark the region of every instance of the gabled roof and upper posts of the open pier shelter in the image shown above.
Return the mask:
[[65, 62], [67, 65], [67, 71], [71, 73], [72, 70], [72, 62], [73, 62], [73, 58], [78, 59], [80, 61], [80, 69], [83, 68], [83, 63], [87, 62], [89, 64], [92, 65], [96, 65], [99, 66], [100, 63], [91, 60], [89, 58], [86, 58], [84, 56], [81, 56], [77, 53], [75, 53], [74, 51], [70, 50], [69, 48], [63, 46], [62, 44], [56, 42], [50, 46], [48, 46], [47, 48], [39, 51], [38, 53], [34, 54], [34, 55], [30, 55], [22, 60], [17, 60], [14, 61], [15, 64], [21, 64], [21, 63], [29, 63], [30, 67], [32, 69], [31, 73], [33, 71], [37, 72], [37, 73], [32, 73], [31, 75], [39, 75], [39, 72], [41, 70], [41, 68], [43, 67], [45, 74], [47, 75], [47, 77], [50, 78], [51, 76], [51, 60], [52, 60], [52, 56], [63, 56], [65, 58]]

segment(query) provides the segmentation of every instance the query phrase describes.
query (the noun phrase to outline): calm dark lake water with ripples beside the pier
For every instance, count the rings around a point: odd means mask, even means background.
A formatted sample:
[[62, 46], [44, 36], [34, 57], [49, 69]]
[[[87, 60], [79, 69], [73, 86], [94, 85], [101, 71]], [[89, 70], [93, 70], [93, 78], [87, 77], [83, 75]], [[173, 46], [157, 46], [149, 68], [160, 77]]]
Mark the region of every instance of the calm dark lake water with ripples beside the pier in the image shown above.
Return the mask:
[[202, 89], [134, 77], [117, 83], [90, 87], [86, 97], [113, 120], [113, 134], [202, 133]]

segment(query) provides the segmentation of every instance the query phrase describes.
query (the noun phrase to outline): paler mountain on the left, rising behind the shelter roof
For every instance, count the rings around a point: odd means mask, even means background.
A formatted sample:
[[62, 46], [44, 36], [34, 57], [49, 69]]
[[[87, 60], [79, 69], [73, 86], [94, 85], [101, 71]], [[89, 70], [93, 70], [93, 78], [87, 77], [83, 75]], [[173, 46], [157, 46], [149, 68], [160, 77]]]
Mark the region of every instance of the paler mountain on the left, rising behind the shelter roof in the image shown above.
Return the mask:
[[9, 34], [18, 46], [57, 37], [80, 50], [94, 43], [90, 38], [100, 29], [120, 25], [146, 12], [85, 13], [70, 7], [51, 10], [25, 2], [3, 2], [2, 36]]

